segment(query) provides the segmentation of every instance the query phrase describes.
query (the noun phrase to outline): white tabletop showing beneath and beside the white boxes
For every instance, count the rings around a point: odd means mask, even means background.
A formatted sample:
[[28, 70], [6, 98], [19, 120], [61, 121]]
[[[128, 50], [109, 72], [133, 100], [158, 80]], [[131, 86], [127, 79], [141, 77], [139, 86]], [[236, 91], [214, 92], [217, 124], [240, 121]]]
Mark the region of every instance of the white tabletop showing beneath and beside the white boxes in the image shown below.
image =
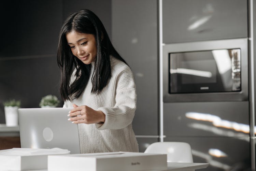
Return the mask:
[[[150, 170], [150, 171], [188, 171], [188, 170], [196, 170], [203, 169], [208, 167], [208, 163], [177, 163], [177, 162], [167, 162], [167, 170]], [[27, 170], [28, 171], [28, 170]], [[44, 170], [29, 170], [29, 171], [47, 171]]]

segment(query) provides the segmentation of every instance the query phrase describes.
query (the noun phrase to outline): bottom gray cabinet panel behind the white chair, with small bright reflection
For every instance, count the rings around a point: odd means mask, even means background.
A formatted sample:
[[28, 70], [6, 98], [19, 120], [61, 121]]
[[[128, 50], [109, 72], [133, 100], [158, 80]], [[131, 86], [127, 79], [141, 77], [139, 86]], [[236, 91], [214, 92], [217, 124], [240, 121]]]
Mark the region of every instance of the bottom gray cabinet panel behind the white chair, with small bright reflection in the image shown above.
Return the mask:
[[250, 137], [167, 137], [164, 141], [189, 143], [193, 161], [209, 163], [202, 171], [251, 170]]

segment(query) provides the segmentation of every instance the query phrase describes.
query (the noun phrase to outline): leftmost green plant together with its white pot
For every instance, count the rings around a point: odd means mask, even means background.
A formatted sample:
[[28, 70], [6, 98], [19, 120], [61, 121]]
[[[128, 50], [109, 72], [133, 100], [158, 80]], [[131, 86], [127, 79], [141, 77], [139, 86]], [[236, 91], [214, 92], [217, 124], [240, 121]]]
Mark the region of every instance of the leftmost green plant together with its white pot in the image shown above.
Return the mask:
[[20, 100], [8, 100], [3, 103], [6, 126], [18, 126], [18, 108]]

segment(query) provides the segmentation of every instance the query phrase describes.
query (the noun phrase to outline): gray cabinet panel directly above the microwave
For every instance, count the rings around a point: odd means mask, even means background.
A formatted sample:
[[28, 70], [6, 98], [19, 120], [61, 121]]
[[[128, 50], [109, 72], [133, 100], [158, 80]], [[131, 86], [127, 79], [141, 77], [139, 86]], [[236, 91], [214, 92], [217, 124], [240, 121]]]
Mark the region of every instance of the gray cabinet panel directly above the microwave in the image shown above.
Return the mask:
[[247, 0], [163, 0], [163, 43], [247, 37]]

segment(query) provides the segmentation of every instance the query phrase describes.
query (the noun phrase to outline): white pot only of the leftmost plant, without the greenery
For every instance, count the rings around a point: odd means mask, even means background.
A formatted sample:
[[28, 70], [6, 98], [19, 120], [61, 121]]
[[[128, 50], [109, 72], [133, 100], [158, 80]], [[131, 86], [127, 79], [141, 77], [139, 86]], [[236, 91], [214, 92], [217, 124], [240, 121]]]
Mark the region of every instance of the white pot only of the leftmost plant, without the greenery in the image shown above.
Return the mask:
[[18, 126], [18, 106], [4, 106], [6, 126]]

